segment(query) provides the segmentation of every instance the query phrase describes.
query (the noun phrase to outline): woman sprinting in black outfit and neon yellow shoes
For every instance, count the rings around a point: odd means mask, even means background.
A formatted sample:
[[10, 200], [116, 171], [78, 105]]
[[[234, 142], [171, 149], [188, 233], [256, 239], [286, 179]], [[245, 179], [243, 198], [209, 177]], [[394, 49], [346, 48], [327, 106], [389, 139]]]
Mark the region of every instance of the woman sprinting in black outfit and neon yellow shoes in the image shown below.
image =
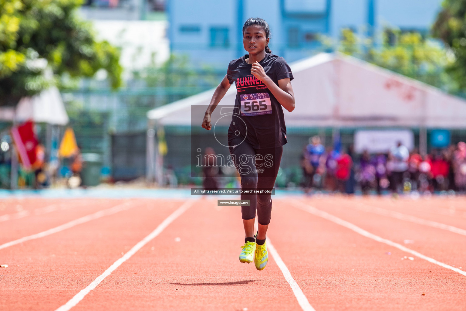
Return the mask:
[[[212, 129], [212, 111], [235, 82], [234, 111], [238, 112], [233, 111], [228, 146], [241, 176], [243, 192], [274, 187], [282, 146], [287, 143], [281, 106], [290, 112], [295, 109], [290, 83], [293, 74], [283, 57], [272, 54], [269, 40], [266, 21], [250, 18], [244, 23], [243, 45], [248, 54], [230, 62], [202, 121], [203, 128]], [[240, 262], [254, 261], [256, 268], [263, 270], [268, 261], [266, 233], [272, 211], [271, 195], [241, 194], [241, 200], [250, 200], [250, 206], [241, 206], [246, 238]], [[259, 230], [254, 236], [256, 210]]]

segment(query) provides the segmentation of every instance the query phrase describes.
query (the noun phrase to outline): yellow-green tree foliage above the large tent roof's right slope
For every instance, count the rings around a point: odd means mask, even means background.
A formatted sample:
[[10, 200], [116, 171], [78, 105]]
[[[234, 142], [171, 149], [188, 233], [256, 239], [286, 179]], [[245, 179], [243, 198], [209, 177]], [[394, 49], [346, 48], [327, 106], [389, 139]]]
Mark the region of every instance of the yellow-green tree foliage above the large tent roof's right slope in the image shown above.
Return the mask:
[[[367, 37], [343, 29], [336, 49], [377, 66], [390, 69], [446, 91], [455, 91], [456, 83], [445, 71], [453, 61], [438, 42], [425, 39], [416, 32], [402, 33], [386, 29], [380, 44]], [[325, 42], [324, 42], [325, 43]]]

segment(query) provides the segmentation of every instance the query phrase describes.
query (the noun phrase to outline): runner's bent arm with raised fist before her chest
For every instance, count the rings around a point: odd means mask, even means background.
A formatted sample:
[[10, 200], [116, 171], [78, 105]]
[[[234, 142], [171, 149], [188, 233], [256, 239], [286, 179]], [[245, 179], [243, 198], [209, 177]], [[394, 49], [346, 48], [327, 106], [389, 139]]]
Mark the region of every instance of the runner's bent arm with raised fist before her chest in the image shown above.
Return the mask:
[[258, 62], [254, 62], [251, 68], [251, 74], [262, 81], [267, 88], [274, 94], [278, 102], [289, 112], [295, 109], [295, 93], [291, 87], [290, 78], [278, 80], [278, 85], [270, 79], [264, 69]]

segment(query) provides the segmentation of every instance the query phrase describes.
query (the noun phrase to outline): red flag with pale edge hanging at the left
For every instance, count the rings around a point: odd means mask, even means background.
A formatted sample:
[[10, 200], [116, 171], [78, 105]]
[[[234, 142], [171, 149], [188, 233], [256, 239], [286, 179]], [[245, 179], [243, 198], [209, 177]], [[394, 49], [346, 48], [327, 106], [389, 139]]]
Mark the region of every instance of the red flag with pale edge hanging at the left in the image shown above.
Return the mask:
[[11, 134], [14, 144], [18, 149], [21, 163], [25, 169], [31, 169], [32, 164], [36, 160], [35, 148], [38, 144], [34, 133], [34, 123], [32, 121], [27, 121], [20, 126], [13, 126], [11, 128]]

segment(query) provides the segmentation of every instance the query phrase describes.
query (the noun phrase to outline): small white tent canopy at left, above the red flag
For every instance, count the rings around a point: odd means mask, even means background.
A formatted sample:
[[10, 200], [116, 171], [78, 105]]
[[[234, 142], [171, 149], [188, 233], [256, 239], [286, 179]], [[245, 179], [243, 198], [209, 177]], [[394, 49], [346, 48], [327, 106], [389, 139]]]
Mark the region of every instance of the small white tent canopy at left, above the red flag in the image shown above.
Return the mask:
[[55, 125], [66, 125], [69, 122], [62, 97], [56, 87], [43, 90], [33, 97], [23, 97], [16, 107], [1, 107], [0, 120], [33, 120]]

